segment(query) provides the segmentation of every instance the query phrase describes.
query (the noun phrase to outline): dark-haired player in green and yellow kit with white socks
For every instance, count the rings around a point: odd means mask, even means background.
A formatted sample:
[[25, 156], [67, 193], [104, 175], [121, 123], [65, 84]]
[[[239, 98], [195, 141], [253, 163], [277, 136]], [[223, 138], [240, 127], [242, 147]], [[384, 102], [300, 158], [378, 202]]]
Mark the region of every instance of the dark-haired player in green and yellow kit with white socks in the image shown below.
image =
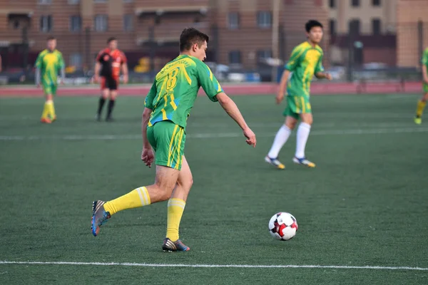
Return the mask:
[[[315, 167], [315, 163], [310, 162], [305, 157], [305, 147], [312, 125], [312, 111], [310, 106], [310, 81], [312, 76], [317, 78], [332, 79], [330, 74], [324, 72], [322, 67], [322, 49], [318, 46], [322, 39], [322, 24], [319, 21], [310, 20], [305, 25], [307, 41], [296, 46], [290, 56], [290, 60], [285, 65], [282, 73], [280, 87], [276, 96], [277, 104], [284, 99], [285, 87], [287, 86], [287, 108], [284, 125], [278, 130], [273, 145], [265, 157], [265, 161], [279, 169], [285, 166], [277, 159], [282, 146], [287, 142], [290, 133], [295, 128], [297, 120], [302, 120], [297, 128], [297, 145], [293, 162]], [[292, 73], [290, 81], [288, 78]], [[287, 84], [288, 82], [288, 84]]]

